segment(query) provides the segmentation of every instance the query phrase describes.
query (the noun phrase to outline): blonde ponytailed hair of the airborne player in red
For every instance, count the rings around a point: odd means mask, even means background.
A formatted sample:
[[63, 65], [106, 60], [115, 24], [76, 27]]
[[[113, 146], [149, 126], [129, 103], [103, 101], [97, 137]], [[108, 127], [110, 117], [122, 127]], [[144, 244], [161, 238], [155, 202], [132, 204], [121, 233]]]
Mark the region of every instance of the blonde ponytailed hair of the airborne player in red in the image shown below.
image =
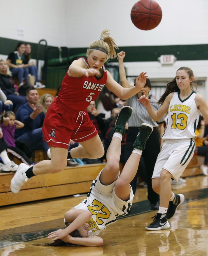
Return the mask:
[[118, 46], [116, 45], [115, 40], [110, 37], [110, 33], [108, 33], [110, 30], [104, 29], [100, 35], [100, 39], [93, 41], [89, 48], [87, 49], [87, 54], [91, 54], [93, 49], [91, 48], [102, 48], [107, 52], [107, 59], [114, 59], [117, 58], [115, 48], [118, 49]]

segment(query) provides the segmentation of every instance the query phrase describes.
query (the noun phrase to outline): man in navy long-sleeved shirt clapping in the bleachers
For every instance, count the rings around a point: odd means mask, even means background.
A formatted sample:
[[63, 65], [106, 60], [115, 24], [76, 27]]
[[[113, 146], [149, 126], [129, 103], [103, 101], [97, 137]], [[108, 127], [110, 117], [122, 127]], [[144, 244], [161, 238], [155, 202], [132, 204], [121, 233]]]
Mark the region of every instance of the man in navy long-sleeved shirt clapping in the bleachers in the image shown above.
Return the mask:
[[24, 142], [31, 150], [48, 151], [49, 146], [43, 140], [42, 126], [45, 118], [43, 106], [37, 106], [38, 91], [30, 87], [26, 91], [27, 103], [19, 107], [16, 119], [24, 124], [21, 129], [16, 129], [15, 140]]

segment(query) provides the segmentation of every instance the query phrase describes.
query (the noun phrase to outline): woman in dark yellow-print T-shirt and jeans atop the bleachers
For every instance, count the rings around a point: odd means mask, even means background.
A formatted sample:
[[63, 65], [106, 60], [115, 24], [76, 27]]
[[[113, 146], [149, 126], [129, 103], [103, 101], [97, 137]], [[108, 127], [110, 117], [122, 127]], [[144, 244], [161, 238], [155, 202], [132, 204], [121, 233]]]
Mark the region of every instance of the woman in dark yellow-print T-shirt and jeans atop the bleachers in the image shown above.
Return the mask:
[[7, 58], [10, 71], [12, 72], [12, 76], [18, 78], [19, 86], [23, 85], [23, 77], [26, 84], [28, 83], [29, 64], [23, 64], [25, 48], [25, 44], [19, 42], [15, 48], [15, 51], [11, 52]]

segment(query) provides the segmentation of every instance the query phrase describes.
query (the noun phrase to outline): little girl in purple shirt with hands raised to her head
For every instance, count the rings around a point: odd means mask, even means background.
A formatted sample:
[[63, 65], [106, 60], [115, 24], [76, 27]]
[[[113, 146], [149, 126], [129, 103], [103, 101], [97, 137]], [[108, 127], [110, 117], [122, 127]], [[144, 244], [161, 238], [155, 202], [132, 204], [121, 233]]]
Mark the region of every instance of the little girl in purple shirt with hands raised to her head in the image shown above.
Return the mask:
[[2, 116], [1, 129], [3, 132], [3, 138], [8, 144], [7, 152], [19, 159], [22, 163], [25, 163], [27, 165], [35, 164], [34, 161], [27, 157], [25, 152], [16, 147], [14, 141], [14, 132], [15, 129], [20, 129], [22, 127], [24, 127], [24, 124], [15, 119], [14, 112], [7, 111]]

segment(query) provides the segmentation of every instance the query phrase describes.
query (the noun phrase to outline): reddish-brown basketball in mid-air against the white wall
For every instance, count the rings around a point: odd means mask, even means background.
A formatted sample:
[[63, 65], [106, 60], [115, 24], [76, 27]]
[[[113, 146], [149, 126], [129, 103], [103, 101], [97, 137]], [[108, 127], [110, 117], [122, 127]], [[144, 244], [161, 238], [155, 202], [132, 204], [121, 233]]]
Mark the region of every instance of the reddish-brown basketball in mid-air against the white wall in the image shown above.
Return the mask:
[[157, 27], [161, 19], [161, 7], [153, 0], [140, 0], [131, 9], [131, 21], [141, 30]]

